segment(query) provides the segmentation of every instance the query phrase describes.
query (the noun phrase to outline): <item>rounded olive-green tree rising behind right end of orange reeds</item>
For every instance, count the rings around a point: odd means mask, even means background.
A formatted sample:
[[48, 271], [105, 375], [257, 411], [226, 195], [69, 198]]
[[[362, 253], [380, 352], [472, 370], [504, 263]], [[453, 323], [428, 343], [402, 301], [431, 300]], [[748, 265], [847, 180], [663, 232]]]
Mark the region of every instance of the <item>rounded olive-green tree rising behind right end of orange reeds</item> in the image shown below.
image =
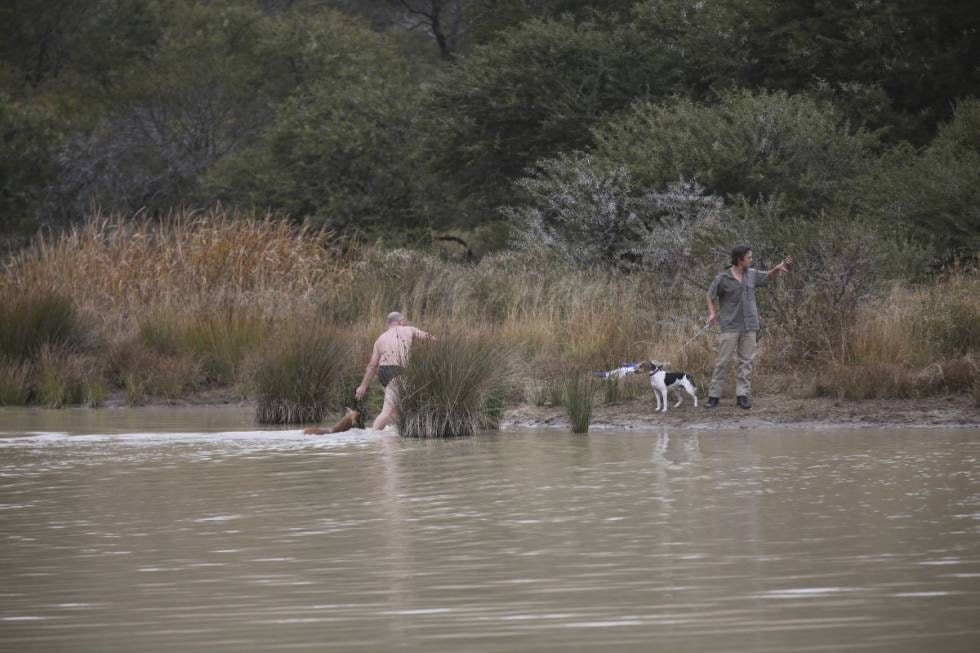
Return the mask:
[[[339, 14], [280, 25], [293, 92], [249, 147], [205, 175], [207, 195], [337, 229], [411, 226], [415, 91], [393, 48]], [[288, 45], [287, 45], [288, 44]], [[291, 71], [291, 72], [290, 72]]]

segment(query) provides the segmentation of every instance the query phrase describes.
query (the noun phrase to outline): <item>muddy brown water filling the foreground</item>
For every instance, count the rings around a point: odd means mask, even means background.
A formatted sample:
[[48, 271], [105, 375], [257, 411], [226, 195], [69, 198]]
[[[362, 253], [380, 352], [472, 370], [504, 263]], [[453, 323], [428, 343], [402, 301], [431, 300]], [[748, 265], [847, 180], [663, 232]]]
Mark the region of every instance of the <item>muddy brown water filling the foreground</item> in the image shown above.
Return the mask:
[[980, 431], [0, 410], [3, 651], [980, 650]]

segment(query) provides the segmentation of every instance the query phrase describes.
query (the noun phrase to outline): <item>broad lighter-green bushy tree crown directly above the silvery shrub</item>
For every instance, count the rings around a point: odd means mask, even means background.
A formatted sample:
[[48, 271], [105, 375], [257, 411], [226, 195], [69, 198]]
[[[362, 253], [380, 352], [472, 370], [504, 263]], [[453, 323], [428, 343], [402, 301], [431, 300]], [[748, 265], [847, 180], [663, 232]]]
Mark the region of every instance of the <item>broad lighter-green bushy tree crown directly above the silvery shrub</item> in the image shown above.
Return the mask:
[[596, 159], [640, 188], [695, 179], [708, 192], [782, 198], [790, 213], [825, 211], [877, 156], [878, 138], [826, 102], [786, 93], [725, 93], [716, 105], [640, 102], [596, 129]]

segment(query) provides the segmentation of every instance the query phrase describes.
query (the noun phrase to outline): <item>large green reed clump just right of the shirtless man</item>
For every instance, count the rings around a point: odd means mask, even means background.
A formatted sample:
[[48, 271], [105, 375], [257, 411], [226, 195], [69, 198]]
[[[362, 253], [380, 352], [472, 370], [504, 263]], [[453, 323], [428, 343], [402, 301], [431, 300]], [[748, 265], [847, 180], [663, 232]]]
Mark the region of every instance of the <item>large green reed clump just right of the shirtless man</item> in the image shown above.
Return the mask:
[[513, 351], [486, 336], [416, 342], [396, 381], [399, 432], [452, 438], [499, 428], [514, 369]]

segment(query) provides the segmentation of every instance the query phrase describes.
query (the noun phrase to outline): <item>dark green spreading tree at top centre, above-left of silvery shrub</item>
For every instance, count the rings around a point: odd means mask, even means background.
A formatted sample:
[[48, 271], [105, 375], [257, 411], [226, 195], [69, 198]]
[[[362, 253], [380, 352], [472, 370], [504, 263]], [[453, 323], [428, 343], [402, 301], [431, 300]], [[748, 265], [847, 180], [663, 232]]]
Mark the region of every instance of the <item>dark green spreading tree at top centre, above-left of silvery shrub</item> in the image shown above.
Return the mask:
[[440, 80], [423, 109], [427, 157], [464, 220], [487, 219], [529, 165], [586, 146], [599, 117], [630, 102], [642, 65], [626, 37], [530, 20]]

